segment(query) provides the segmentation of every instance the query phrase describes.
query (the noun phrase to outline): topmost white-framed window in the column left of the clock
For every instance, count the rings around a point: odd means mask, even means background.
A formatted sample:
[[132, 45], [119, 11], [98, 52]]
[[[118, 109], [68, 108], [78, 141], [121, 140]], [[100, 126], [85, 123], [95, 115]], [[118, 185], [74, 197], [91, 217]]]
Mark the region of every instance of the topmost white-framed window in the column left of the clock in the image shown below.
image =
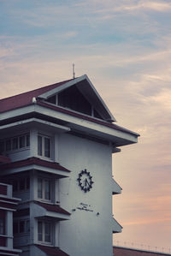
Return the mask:
[[51, 140], [50, 137], [38, 135], [38, 156], [50, 158]]

